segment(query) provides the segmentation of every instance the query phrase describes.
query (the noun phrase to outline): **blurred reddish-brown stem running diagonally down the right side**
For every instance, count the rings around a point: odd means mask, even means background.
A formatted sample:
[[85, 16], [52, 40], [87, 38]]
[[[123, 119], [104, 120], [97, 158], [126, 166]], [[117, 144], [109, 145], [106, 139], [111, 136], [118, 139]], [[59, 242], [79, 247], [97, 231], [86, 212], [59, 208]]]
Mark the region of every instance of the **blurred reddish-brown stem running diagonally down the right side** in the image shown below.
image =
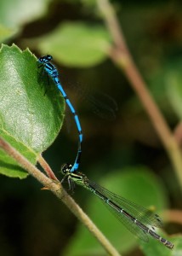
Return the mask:
[[97, 4], [103, 15], [103, 19], [105, 20], [105, 25], [114, 41], [113, 48], [109, 53], [111, 60], [122, 69], [136, 94], [139, 96], [146, 113], [148, 113], [151, 119], [151, 123], [154, 125], [164, 148], [166, 148], [169, 159], [174, 167], [174, 171], [179, 179], [180, 188], [182, 189], [182, 158], [179, 145], [134, 64], [114, 9], [108, 0], [97, 0]]

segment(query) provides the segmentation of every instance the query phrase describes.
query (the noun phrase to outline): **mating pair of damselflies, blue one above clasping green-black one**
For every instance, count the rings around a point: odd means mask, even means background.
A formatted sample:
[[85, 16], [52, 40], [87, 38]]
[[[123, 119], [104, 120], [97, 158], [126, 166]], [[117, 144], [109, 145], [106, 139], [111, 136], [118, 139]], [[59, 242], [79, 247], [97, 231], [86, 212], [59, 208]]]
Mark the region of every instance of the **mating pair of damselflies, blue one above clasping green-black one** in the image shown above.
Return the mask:
[[77, 113], [66, 96], [65, 90], [63, 90], [60, 84], [59, 73], [56, 67], [50, 63], [51, 60], [51, 55], [45, 55], [39, 58], [38, 62], [41, 63], [41, 66], [43, 66], [44, 70], [54, 80], [54, 84], [56, 84], [62, 96], [64, 96], [65, 102], [74, 116], [79, 135], [77, 158], [73, 166], [68, 164], [62, 166], [61, 171], [65, 175], [62, 182], [67, 181], [70, 189], [74, 189], [75, 183], [77, 183], [85, 189], [93, 192], [101, 201], [105, 202], [106, 207], [110, 207], [111, 212], [122, 222], [122, 224], [124, 224], [128, 230], [130, 230], [135, 236], [138, 236], [141, 240], [148, 241], [148, 236], [151, 236], [157, 241], [162, 242], [164, 246], [173, 249], [173, 243], [162, 238], [162, 236], [157, 235], [155, 232], [156, 227], [162, 227], [162, 220], [156, 213], [153, 213], [144, 207], [140, 207], [134, 202], [128, 201], [121, 196], [111, 193], [111, 191], [101, 187], [99, 184], [88, 180], [88, 177], [81, 172], [77, 172], [82, 153], [82, 129]]

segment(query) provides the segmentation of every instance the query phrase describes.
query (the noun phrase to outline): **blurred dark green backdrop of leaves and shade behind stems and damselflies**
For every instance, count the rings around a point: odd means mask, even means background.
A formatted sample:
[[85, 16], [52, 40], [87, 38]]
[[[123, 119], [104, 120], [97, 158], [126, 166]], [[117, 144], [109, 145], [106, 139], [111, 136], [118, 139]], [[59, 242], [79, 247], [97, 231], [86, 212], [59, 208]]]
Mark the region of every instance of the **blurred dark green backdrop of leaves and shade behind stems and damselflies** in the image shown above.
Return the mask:
[[[180, 1], [111, 4], [151, 95], [174, 129], [182, 117]], [[37, 57], [54, 56], [82, 124], [81, 172], [161, 214], [182, 207], [178, 180], [162, 143], [127, 79], [105, 53], [111, 38], [94, 0], [3, 0], [0, 39], [28, 47]], [[76, 154], [77, 129], [67, 109], [60, 135], [43, 157], [61, 179], [61, 164], [73, 162]], [[32, 177], [0, 177], [0, 255], [105, 255], [65, 205], [41, 188]], [[79, 187], [73, 196], [120, 252], [144, 255], [134, 236], [94, 195]], [[178, 233], [180, 226], [169, 222], [168, 234]]]

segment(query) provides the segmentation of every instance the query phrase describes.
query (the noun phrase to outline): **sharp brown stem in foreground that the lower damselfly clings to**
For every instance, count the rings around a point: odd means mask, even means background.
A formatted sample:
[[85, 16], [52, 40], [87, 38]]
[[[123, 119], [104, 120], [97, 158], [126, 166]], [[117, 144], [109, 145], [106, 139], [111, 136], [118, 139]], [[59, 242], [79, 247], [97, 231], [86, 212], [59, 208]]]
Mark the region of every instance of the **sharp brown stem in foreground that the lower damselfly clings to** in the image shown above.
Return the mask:
[[76, 202], [71, 198], [70, 195], [67, 195], [65, 189], [62, 188], [60, 182], [56, 182], [45, 176], [43, 172], [37, 169], [36, 166], [33, 166], [31, 162], [26, 160], [26, 158], [20, 154], [15, 148], [13, 148], [9, 143], [3, 140], [0, 137], [0, 148], [3, 149], [10, 157], [16, 160], [20, 166], [22, 166], [26, 171], [35, 177], [43, 186], [51, 190], [54, 195], [56, 195], [65, 205], [77, 216], [77, 218], [84, 224], [88, 230], [95, 236], [95, 238], [100, 241], [100, 244], [105, 248], [105, 251], [112, 256], [119, 256], [120, 254], [117, 250], [111, 245], [105, 236], [100, 232], [100, 230], [95, 226], [95, 224], [88, 218], [88, 216], [82, 212], [82, 209], [76, 204]]

